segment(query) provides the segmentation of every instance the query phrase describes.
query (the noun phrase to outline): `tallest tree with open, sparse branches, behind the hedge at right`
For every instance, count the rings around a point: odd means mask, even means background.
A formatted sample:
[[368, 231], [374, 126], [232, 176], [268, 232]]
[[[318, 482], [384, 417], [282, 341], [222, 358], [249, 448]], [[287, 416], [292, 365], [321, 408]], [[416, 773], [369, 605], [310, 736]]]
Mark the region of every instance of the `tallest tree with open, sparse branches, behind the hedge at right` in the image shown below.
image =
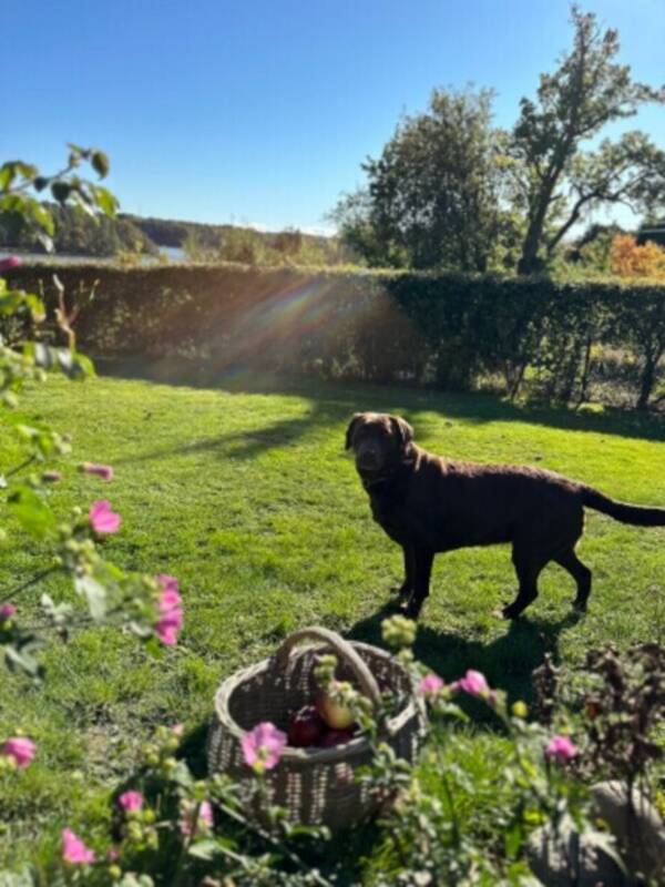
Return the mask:
[[605, 124], [634, 115], [659, 90], [633, 82], [617, 64], [618, 34], [593, 13], [572, 8], [573, 48], [553, 74], [541, 74], [538, 99], [522, 99], [512, 132], [515, 194], [526, 215], [521, 273], [541, 267], [583, 212], [625, 203], [634, 210], [665, 203], [665, 152], [640, 132], [605, 140], [594, 152], [580, 143]]

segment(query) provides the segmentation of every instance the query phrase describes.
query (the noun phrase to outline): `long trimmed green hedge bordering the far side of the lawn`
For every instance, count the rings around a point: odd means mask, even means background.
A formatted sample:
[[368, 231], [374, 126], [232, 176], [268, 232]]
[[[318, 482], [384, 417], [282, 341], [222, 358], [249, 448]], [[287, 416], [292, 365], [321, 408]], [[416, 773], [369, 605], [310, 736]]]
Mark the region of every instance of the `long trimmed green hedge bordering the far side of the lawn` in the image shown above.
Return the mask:
[[[664, 286], [236, 265], [57, 273], [80, 305], [80, 345], [98, 356], [441, 388], [490, 379], [557, 401], [620, 389], [638, 407], [658, 399]], [[52, 274], [23, 266], [11, 281], [53, 305]]]

